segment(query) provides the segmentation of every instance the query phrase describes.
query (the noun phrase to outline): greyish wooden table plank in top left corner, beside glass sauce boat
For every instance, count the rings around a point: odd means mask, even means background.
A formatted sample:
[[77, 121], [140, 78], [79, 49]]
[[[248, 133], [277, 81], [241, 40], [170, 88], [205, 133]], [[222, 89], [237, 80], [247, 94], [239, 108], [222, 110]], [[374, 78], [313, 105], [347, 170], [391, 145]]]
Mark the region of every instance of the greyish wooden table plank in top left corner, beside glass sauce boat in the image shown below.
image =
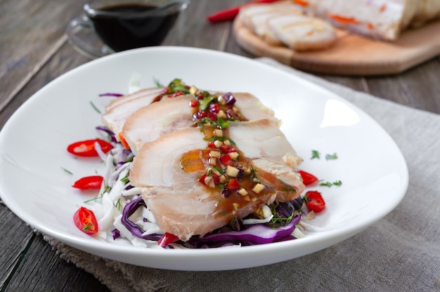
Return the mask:
[[16, 1], [0, 4], [0, 110], [64, 44], [67, 20], [79, 1]]

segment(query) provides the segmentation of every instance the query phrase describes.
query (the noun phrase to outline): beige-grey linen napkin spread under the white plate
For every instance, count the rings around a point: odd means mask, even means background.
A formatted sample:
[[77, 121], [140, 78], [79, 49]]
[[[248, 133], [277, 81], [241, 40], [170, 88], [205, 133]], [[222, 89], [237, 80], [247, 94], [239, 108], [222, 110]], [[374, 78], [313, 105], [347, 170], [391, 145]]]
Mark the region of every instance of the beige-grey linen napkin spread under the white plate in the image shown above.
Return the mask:
[[[224, 272], [136, 267], [46, 240], [112, 291], [440, 291], [440, 116], [331, 84], [270, 59], [370, 114], [394, 138], [410, 184], [383, 220], [342, 243], [284, 263]], [[380, 204], [380, 196], [371, 199]]]

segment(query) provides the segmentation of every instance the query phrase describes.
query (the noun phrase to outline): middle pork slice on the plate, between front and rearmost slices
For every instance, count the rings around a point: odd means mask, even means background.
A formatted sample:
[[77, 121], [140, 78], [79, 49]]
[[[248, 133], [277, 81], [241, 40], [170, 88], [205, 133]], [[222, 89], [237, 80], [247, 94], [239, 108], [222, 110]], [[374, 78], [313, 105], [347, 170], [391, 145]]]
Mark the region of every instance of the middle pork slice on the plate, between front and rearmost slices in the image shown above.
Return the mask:
[[[215, 96], [224, 93], [214, 93]], [[275, 119], [272, 110], [250, 93], [233, 93], [235, 107], [247, 120]], [[122, 128], [122, 136], [136, 155], [145, 142], [151, 142], [166, 133], [193, 126], [192, 95], [164, 98], [131, 114]]]

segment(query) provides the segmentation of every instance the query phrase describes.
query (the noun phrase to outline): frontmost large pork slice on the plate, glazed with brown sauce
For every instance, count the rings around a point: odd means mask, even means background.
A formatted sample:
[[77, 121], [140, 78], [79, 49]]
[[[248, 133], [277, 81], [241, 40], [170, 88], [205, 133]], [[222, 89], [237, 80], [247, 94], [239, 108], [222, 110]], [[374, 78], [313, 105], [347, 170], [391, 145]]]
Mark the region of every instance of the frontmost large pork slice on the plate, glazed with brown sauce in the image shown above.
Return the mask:
[[[200, 128], [167, 133], [145, 143], [139, 150], [129, 179], [132, 185], [141, 187], [145, 203], [164, 232], [186, 241], [194, 234], [206, 234], [228, 225], [233, 217], [244, 218], [264, 204], [275, 200], [291, 201], [304, 190], [293, 168], [301, 159], [276, 121], [237, 122], [226, 132], [240, 150], [240, 161], [257, 171], [261, 183], [266, 186], [264, 191], [253, 192], [252, 186], [247, 185], [251, 180], [243, 178], [239, 180], [240, 185], [246, 188], [250, 197], [243, 197], [238, 192], [224, 197], [219, 187], [200, 183], [205, 168], [209, 167], [208, 159], [202, 157], [204, 152], [210, 151], [204, 140], [209, 133], [202, 133]], [[182, 168], [183, 158], [194, 152], [197, 154], [193, 162], [201, 167], [186, 172]], [[289, 190], [285, 184], [290, 185]]]

